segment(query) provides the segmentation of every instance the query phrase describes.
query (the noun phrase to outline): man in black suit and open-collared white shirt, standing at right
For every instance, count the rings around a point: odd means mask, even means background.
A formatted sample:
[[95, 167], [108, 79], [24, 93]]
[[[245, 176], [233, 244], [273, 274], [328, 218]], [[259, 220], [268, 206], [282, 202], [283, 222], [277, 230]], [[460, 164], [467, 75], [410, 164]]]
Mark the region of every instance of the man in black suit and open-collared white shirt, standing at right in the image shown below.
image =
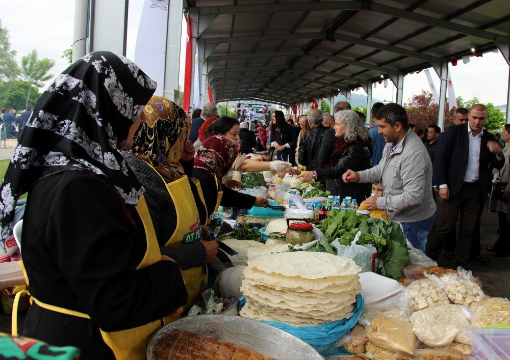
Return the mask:
[[439, 196], [443, 199], [443, 214], [436, 238], [428, 247], [428, 255], [432, 259], [437, 259], [441, 253], [460, 212], [455, 265], [467, 266], [472, 233], [481, 216], [479, 210], [486, 192], [489, 166], [492, 164], [501, 169], [504, 164], [494, 135], [483, 131], [486, 120], [487, 107], [473, 105], [467, 124], [450, 126], [440, 137], [433, 164], [433, 184], [439, 188]]

